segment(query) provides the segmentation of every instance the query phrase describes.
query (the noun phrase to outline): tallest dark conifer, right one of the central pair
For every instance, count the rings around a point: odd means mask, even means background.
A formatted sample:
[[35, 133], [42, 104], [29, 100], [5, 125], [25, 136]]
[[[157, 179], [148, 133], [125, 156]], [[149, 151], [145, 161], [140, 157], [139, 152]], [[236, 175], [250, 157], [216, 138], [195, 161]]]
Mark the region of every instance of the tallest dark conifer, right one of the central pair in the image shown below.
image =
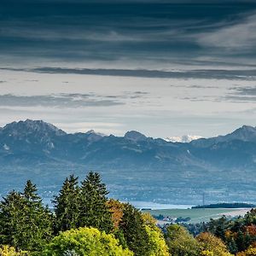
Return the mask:
[[79, 226], [94, 227], [107, 233], [113, 230], [107, 195], [108, 190], [100, 174], [89, 172], [80, 189]]

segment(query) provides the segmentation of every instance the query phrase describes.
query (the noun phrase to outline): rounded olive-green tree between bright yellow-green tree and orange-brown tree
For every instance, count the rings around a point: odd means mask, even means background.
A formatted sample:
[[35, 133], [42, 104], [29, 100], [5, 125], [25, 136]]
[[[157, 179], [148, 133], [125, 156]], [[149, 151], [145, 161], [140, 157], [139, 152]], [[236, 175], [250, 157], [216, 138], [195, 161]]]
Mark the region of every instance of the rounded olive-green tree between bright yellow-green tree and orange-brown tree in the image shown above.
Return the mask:
[[201, 246], [189, 231], [178, 224], [172, 224], [166, 229], [166, 243], [172, 256], [198, 256]]

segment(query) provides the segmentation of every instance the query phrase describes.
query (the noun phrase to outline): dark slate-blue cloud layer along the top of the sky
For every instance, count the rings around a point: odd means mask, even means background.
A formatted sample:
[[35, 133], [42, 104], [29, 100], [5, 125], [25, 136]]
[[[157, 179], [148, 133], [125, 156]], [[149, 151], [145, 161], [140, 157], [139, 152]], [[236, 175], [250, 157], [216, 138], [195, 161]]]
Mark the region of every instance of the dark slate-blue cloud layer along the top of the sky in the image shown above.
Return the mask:
[[[224, 61], [226, 55], [255, 54], [253, 1], [12, 2], [6, 1], [0, 10], [2, 55], [65, 61], [150, 60], [161, 65], [198, 56]], [[58, 8], [56, 3], [61, 3]]]

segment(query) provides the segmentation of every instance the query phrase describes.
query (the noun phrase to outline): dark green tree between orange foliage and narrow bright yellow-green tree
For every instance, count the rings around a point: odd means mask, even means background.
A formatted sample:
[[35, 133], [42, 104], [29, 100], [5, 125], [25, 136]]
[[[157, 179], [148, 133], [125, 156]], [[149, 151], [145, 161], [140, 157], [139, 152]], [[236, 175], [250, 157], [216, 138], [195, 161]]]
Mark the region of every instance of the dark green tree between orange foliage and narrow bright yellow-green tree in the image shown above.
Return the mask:
[[129, 249], [137, 256], [148, 256], [149, 237], [142, 213], [130, 204], [125, 204], [123, 218], [119, 223]]

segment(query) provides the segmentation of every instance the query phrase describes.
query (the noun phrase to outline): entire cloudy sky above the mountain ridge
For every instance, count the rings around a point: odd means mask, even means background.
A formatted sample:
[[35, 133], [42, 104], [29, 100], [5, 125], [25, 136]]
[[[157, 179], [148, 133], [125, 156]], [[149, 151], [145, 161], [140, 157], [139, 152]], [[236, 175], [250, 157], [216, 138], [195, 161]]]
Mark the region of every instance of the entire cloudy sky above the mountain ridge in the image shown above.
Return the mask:
[[2, 0], [0, 126], [213, 137], [256, 118], [255, 1]]

